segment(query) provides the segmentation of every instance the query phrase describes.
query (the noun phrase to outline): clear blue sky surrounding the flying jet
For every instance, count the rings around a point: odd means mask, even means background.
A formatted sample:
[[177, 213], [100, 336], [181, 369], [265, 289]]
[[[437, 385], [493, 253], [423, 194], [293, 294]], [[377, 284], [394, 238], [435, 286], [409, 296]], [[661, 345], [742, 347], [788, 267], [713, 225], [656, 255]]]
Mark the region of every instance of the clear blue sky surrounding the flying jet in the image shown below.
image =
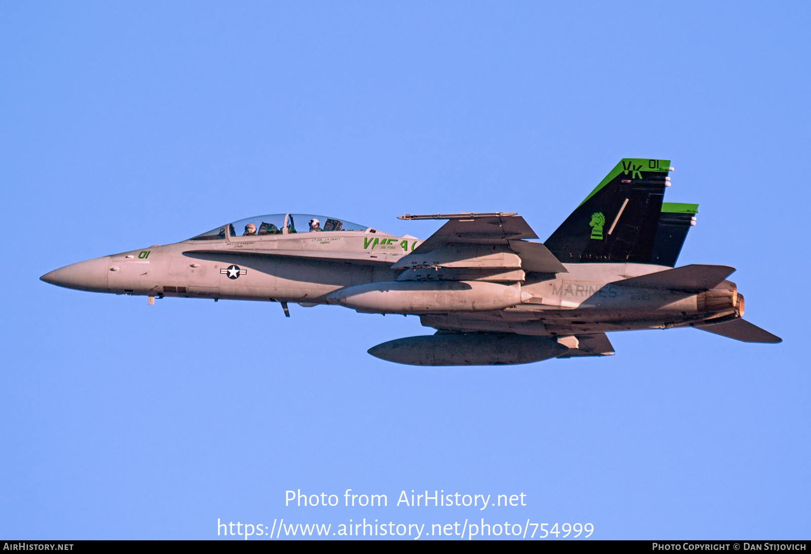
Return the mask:
[[[808, 539], [809, 15], [3, 2], [0, 536], [484, 517]], [[545, 238], [636, 156], [672, 160], [666, 199], [701, 205], [680, 263], [736, 267], [747, 319], [782, 344], [650, 330], [609, 335], [611, 358], [414, 368], [366, 350], [431, 333], [416, 317], [38, 280], [284, 211], [418, 237], [436, 222], [395, 216], [518, 211]], [[285, 508], [298, 488], [389, 506]], [[393, 506], [411, 489], [527, 506]]]

